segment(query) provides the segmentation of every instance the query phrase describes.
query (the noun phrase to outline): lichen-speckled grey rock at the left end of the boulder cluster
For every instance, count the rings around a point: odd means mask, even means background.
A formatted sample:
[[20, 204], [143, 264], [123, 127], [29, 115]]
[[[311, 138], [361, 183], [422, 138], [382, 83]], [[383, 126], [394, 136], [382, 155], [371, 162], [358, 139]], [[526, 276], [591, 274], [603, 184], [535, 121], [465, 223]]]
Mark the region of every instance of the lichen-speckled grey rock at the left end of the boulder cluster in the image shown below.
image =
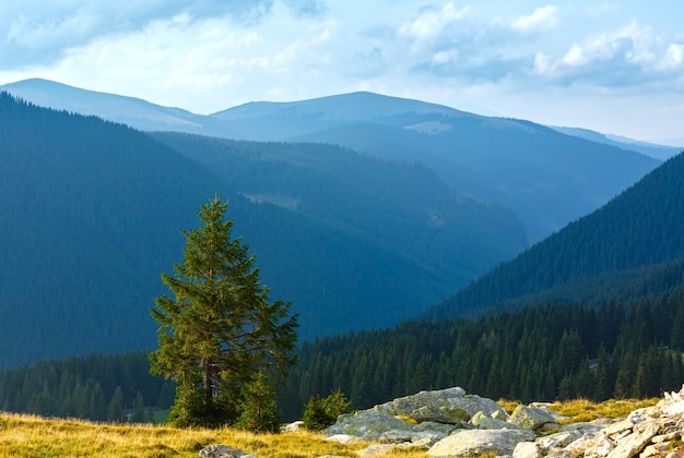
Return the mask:
[[338, 422], [326, 429], [323, 435], [346, 434], [363, 441], [376, 442], [380, 435], [392, 430], [410, 433], [413, 431], [413, 426], [386, 412], [361, 410], [353, 414], [344, 413], [338, 417]]

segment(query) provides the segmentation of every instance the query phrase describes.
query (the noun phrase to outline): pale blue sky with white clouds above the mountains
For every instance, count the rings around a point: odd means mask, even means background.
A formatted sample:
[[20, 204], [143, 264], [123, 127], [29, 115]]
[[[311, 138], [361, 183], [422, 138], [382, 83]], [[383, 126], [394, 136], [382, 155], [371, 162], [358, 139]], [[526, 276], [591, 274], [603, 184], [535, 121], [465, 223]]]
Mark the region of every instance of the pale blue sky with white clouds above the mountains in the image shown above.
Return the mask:
[[0, 84], [201, 114], [369, 91], [684, 145], [682, 17], [681, 0], [0, 0]]

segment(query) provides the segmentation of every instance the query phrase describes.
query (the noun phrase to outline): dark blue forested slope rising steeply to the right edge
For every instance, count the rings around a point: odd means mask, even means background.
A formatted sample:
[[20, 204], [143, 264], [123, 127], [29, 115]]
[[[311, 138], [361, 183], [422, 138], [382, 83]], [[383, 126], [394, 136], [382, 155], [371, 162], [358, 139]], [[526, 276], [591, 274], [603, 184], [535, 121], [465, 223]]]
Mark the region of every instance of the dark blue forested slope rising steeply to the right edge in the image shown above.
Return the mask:
[[[543, 301], [595, 302], [638, 296], [635, 285], [657, 292], [681, 285], [682, 195], [684, 154], [599, 210], [473, 281], [431, 311], [431, 316], [482, 314]], [[660, 284], [656, 288], [652, 278]]]

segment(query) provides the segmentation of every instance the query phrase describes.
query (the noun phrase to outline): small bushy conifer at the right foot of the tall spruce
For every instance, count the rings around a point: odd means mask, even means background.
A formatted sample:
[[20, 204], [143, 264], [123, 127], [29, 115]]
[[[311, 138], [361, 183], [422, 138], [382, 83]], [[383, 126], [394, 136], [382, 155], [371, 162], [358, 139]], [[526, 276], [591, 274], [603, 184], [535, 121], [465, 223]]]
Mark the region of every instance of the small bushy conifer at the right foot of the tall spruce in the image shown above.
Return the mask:
[[251, 383], [245, 386], [239, 407], [241, 413], [236, 427], [253, 433], [275, 433], [280, 430], [275, 389], [268, 383], [263, 372], [259, 371]]

